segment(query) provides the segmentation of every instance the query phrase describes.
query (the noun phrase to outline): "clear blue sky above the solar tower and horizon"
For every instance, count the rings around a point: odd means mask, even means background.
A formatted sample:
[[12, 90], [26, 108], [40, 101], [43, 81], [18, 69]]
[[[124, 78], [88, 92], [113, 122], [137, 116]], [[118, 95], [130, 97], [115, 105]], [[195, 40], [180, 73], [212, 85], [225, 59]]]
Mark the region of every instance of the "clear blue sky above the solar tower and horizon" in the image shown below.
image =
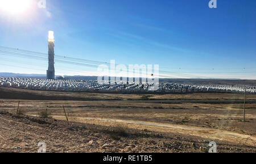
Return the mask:
[[[47, 53], [52, 30], [56, 55], [159, 64], [160, 70], [195, 77], [256, 79], [254, 0], [217, 0], [217, 8], [209, 8], [209, 0], [46, 2], [46, 8], [33, 3], [19, 15], [0, 11], [0, 46]], [[0, 72], [46, 74], [48, 67], [47, 60], [0, 58]], [[57, 75], [96, 71], [58, 62], [55, 69]]]

